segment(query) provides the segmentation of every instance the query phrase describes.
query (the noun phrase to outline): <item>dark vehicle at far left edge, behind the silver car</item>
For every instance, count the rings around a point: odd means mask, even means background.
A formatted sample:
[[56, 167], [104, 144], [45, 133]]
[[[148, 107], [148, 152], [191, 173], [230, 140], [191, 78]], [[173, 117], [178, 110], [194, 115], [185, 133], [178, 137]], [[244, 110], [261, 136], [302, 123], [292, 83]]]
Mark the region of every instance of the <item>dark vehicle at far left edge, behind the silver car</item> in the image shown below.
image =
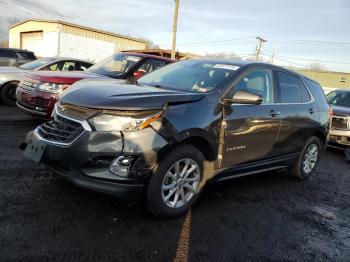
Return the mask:
[[0, 48], [0, 66], [19, 66], [33, 60], [36, 60], [33, 52], [15, 48]]

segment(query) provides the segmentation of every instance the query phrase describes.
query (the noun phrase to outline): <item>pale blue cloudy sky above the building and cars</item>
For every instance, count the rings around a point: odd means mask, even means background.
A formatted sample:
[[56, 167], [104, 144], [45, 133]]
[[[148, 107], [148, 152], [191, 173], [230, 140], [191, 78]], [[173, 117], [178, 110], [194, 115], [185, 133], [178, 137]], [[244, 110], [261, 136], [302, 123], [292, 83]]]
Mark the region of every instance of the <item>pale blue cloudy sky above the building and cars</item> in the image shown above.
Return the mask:
[[[174, 0], [47, 1], [0, 0], [53, 10], [49, 16], [115, 33], [145, 37], [171, 47]], [[45, 16], [45, 15], [43, 15]], [[60, 18], [60, 17], [58, 17]], [[0, 23], [1, 23], [0, 16]], [[198, 54], [255, 52], [256, 37], [267, 42], [263, 53], [275, 62], [308, 67], [321, 63], [350, 72], [350, 0], [180, 0], [177, 49]], [[321, 62], [320, 62], [321, 61]]]

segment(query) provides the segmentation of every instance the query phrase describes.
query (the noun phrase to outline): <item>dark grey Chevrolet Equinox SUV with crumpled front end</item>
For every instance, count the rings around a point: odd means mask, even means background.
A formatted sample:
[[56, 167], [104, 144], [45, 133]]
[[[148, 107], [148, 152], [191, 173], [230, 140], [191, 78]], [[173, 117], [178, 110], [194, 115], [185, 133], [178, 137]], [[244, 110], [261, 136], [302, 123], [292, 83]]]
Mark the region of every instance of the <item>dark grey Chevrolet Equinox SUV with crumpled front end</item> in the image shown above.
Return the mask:
[[83, 80], [25, 155], [88, 189], [140, 196], [161, 217], [186, 212], [211, 180], [289, 168], [310, 177], [331, 108], [320, 86], [259, 63], [181, 61], [136, 84]]

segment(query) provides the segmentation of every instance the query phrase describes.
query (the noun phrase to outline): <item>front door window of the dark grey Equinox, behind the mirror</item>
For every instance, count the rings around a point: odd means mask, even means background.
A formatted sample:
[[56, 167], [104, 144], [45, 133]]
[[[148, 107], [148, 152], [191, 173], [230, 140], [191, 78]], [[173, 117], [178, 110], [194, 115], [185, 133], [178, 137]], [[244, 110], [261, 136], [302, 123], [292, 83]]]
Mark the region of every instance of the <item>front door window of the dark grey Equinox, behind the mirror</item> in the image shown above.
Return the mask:
[[[273, 74], [271, 70], [256, 69], [246, 73], [235, 84], [233, 92], [246, 91], [261, 95], [263, 103], [273, 102]], [[233, 95], [233, 94], [232, 94]]]

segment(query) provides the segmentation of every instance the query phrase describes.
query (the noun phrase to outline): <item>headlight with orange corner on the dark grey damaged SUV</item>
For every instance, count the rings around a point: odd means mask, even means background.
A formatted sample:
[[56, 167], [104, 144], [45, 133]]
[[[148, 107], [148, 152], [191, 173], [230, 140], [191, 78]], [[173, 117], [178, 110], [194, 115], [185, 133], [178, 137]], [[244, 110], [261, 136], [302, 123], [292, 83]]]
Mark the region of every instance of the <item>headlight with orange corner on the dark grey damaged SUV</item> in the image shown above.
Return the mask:
[[160, 118], [160, 116], [161, 113], [142, 118], [101, 114], [91, 118], [89, 123], [97, 131], [140, 130], [148, 127], [152, 122]]

